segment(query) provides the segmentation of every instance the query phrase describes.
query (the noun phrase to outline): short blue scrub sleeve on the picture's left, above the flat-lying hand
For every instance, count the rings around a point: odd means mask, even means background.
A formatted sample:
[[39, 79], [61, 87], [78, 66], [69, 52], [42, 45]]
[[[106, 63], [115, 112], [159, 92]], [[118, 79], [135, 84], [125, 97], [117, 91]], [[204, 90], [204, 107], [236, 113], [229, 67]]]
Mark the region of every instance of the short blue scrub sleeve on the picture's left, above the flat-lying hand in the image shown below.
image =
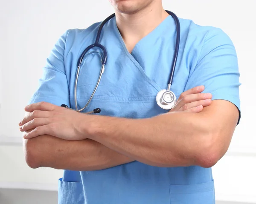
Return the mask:
[[68, 31], [58, 39], [47, 58], [38, 89], [30, 99], [29, 104], [44, 101], [58, 106], [61, 104], [70, 106], [69, 86], [64, 64], [67, 34]]

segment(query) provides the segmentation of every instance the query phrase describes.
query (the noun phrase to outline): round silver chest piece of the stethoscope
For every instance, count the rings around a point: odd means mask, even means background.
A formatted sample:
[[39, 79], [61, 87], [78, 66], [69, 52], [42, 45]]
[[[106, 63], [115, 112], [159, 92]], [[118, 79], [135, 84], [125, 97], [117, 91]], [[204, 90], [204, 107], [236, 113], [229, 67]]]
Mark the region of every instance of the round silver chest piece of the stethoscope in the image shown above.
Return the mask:
[[157, 94], [157, 105], [162, 109], [172, 109], [176, 104], [176, 96], [172, 91], [166, 89], [161, 90]]

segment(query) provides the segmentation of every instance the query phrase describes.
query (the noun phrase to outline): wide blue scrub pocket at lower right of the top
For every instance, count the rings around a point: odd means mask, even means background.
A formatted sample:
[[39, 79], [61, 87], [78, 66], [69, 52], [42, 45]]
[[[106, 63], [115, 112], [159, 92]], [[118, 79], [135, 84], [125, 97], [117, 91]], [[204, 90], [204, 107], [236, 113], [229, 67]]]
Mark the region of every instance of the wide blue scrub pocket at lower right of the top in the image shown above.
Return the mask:
[[171, 204], [215, 204], [214, 181], [170, 186]]

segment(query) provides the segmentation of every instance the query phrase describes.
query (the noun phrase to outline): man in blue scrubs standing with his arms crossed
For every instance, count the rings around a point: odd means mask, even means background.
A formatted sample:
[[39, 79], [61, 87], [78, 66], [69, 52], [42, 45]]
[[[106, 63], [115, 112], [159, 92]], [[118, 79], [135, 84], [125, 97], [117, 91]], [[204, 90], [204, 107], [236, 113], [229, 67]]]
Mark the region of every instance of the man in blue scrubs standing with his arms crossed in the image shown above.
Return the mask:
[[[233, 43], [221, 29], [179, 19], [180, 53], [172, 84], [179, 100], [166, 113], [155, 97], [169, 79], [174, 20], [161, 0], [111, 3], [116, 17], [103, 27], [100, 39], [108, 64], [87, 107], [100, 107], [102, 113], [60, 107], [75, 106], [77, 59], [95, 40], [96, 23], [67, 31], [47, 59], [19, 124], [28, 165], [65, 170], [60, 204], [214, 204], [210, 167], [227, 151], [239, 122]], [[99, 68], [95, 53], [82, 64], [80, 107], [93, 91]]]

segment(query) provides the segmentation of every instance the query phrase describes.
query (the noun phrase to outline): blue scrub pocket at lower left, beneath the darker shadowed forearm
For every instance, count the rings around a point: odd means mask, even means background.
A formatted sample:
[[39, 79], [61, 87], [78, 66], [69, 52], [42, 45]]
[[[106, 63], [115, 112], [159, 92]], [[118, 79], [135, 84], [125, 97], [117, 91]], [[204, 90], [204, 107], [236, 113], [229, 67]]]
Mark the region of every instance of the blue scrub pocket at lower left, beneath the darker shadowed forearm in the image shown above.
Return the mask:
[[81, 182], [58, 181], [58, 204], [84, 204], [84, 190]]

